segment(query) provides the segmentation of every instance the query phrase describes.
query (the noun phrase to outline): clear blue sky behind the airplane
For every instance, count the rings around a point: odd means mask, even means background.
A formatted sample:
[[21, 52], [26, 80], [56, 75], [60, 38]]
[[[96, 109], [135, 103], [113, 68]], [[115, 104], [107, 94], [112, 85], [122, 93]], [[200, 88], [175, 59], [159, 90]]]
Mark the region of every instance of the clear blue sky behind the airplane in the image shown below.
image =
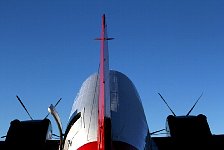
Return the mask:
[[[47, 114], [51, 103], [64, 129], [82, 82], [97, 71], [101, 16], [106, 14], [111, 69], [126, 74], [142, 99], [150, 131], [171, 114], [203, 113], [224, 133], [223, 0], [1, 0], [0, 135], [10, 121]], [[57, 132], [52, 117], [54, 132]]]

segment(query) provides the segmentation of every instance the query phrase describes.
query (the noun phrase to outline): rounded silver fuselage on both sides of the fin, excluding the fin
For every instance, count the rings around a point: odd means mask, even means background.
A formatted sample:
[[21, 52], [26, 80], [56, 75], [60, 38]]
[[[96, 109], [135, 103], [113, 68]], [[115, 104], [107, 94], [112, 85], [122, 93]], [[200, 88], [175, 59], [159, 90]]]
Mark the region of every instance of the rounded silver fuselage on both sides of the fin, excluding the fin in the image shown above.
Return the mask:
[[[110, 71], [109, 79], [112, 149], [146, 149], [149, 141], [146, 139], [150, 137], [136, 88], [124, 74], [118, 71]], [[98, 94], [99, 79], [97, 74], [93, 74], [83, 83], [75, 99], [70, 121], [79, 112], [81, 117], [72, 125], [66, 136], [65, 150], [98, 149], [96, 146]]]

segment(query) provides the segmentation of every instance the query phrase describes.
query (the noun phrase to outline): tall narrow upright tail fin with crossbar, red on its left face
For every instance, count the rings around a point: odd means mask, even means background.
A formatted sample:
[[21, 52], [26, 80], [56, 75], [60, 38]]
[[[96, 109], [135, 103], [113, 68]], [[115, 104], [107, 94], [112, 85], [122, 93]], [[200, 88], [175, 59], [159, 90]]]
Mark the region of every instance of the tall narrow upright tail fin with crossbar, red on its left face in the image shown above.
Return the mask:
[[[101, 37], [96, 40], [101, 41], [100, 47], [100, 86], [98, 101], [98, 150], [111, 149], [111, 115], [110, 115], [110, 86], [109, 86], [109, 53], [107, 40], [105, 14], [102, 16]], [[108, 132], [109, 131], [109, 132]]]

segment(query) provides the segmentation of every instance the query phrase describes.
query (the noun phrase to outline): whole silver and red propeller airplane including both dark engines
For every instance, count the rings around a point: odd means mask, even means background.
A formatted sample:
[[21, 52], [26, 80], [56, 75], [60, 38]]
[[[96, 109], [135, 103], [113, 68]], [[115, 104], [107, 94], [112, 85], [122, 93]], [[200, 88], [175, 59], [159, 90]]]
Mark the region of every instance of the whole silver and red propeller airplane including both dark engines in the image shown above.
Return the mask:
[[101, 44], [98, 72], [83, 82], [64, 133], [56, 105], [51, 104], [48, 108], [58, 126], [59, 140], [52, 138], [51, 121], [46, 117], [43, 120], [33, 120], [32, 117], [27, 121], [16, 119], [11, 122], [5, 141], [0, 142], [1, 150], [181, 150], [224, 147], [224, 136], [212, 135], [206, 116], [202, 114], [176, 116], [173, 113], [167, 117], [166, 131], [169, 134], [153, 137], [158, 131], [150, 133], [136, 87], [123, 73], [110, 70], [108, 41], [113, 38], [107, 36], [105, 14], [102, 15], [101, 28], [101, 36], [96, 38]]

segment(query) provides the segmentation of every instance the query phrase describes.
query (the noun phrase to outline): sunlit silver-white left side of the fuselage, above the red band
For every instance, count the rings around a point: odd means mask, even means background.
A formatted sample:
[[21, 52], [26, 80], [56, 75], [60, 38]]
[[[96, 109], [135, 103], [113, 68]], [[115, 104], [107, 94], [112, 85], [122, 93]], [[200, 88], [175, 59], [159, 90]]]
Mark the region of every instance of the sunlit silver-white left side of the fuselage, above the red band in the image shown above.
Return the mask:
[[98, 89], [97, 74], [91, 75], [82, 84], [75, 98], [69, 122], [72, 122], [78, 113], [81, 113], [81, 117], [69, 129], [65, 138], [64, 150], [78, 149], [87, 143], [97, 141]]

